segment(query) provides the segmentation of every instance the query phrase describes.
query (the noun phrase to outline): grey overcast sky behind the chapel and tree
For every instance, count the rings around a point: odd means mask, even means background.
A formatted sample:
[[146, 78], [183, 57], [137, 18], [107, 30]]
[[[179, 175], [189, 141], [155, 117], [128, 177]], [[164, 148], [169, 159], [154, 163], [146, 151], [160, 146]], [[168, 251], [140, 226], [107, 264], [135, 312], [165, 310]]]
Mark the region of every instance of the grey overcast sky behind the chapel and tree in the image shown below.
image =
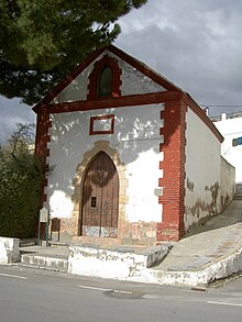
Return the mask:
[[[148, 0], [120, 20], [114, 45], [162, 74], [210, 115], [242, 111], [242, 1]], [[0, 142], [35, 114], [0, 97]]]

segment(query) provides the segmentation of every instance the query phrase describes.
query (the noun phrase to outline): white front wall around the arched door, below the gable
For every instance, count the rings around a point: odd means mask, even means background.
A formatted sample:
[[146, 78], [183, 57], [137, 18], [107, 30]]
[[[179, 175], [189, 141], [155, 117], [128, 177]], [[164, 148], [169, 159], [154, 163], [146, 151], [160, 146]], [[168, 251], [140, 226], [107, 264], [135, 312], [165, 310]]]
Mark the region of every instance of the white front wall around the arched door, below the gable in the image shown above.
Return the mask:
[[[47, 162], [54, 169], [45, 191], [52, 216], [72, 216], [76, 167], [82, 162], [84, 154], [94, 148], [95, 142], [106, 140], [127, 165], [127, 219], [130, 222], [161, 222], [162, 206], [156, 196], [161, 177], [161, 104], [150, 104], [52, 114]], [[116, 115], [114, 134], [89, 135], [90, 116], [106, 114]]]

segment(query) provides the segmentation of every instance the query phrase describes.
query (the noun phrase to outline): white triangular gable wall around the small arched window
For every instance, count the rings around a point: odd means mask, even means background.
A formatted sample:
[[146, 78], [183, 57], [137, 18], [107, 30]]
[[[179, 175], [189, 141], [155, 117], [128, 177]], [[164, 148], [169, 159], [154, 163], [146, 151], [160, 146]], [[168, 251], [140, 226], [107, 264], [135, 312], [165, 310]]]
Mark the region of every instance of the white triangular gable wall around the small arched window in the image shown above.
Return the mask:
[[89, 74], [92, 71], [95, 63], [101, 59], [105, 55], [116, 58], [119, 67], [122, 69], [122, 85], [120, 88], [122, 96], [165, 91], [162, 86], [157, 85], [151, 78], [133, 68], [130, 64], [123, 62], [109, 51], [105, 51], [80, 75], [78, 75], [76, 79], [74, 79], [62, 92], [59, 92], [53, 102], [57, 103], [86, 100]]

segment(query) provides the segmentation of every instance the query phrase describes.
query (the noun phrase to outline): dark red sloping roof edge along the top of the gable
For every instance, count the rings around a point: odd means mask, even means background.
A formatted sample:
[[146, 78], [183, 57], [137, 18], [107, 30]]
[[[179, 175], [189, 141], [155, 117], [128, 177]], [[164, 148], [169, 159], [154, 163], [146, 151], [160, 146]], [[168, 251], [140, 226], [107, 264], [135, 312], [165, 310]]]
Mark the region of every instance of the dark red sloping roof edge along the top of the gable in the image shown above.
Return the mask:
[[120, 48], [113, 45], [107, 45], [100, 49], [96, 49], [92, 54], [87, 56], [70, 74], [68, 74], [57, 86], [55, 86], [36, 106], [33, 110], [36, 111], [41, 106], [48, 104], [64, 88], [66, 88], [80, 73], [84, 71], [101, 53], [109, 51], [120, 57], [122, 60], [130, 64], [132, 67], [161, 85], [167, 90], [183, 92], [183, 89], [177, 87], [175, 84], [163, 77], [162, 75], [154, 71], [152, 68], [146, 66], [144, 63], [124, 53]]

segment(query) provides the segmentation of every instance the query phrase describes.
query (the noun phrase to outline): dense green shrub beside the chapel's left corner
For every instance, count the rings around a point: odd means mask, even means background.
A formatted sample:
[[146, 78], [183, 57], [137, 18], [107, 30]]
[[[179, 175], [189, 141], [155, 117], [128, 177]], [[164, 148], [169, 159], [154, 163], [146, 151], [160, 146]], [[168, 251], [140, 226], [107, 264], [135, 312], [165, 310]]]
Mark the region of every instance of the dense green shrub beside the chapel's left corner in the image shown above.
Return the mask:
[[43, 171], [28, 148], [0, 149], [0, 236], [36, 236]]

